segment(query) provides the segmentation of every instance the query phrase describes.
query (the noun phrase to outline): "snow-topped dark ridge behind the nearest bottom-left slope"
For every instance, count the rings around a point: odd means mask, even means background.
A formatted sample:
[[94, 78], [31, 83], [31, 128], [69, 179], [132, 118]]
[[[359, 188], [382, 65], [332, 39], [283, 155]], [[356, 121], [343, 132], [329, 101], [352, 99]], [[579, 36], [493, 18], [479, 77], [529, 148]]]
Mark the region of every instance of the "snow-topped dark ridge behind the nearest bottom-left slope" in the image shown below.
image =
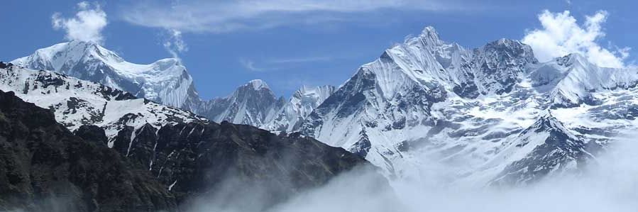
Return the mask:
[[[227, 179], [238, 186], [263, 186], [269, 194], [264, 202], [274, 204], [355, 167], [372, 169], [362, 157], [298, 133], [275, 135], [249, 125], [212, 123], [179, 108], [64, 74], [0, 65], [1, 90], [16, 91], [16, 96], [50, 108], [55, 113], [48, 113], [52, 120], [55, 116], [85, 142], [111, 147], [131, 167], [145, 170], [160, 182], [172, 204], [185, 205], [189, 199], [206, 196]], [[111, 106], [117, 113], [109, 110]], [[87, 118], [94, 117], [91, 108], [102, 108], [98, 118]], [[380, 176], [379, 183], [387, 184]], [[21, 199], [6, 196], [11, 198]], [[3, 202], [0, 206], [14, 206]]]

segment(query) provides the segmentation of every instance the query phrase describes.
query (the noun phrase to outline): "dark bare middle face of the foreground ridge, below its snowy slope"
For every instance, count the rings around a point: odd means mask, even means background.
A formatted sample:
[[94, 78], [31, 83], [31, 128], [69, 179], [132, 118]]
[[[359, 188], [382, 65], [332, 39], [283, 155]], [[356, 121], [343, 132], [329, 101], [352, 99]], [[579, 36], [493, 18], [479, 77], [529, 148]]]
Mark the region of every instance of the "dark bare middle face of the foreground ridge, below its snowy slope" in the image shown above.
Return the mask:
[[[116, 140], [130, 141], [130, 135]], [[229, 179], [265, 186], [266, 202], [274, 204], [358, 165], [370, 166], [358, 155], [297, 133], [275, 135], [226, 121], [145, 125], [133, 135], [133, 143], [121, 144], [130, 148], [120, 153], [149, 169], [181, 204], [215, 192]]]

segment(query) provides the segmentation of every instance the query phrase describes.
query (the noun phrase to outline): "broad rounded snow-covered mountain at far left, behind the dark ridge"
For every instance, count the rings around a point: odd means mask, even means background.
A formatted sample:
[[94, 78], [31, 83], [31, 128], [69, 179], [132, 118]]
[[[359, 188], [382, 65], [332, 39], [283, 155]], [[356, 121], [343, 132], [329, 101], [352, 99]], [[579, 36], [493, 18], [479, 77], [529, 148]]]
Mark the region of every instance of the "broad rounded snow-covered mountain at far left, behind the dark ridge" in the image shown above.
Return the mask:
[[169, 106], [191, 109], [199, 101], [192, 77], [175, 58], [138, 65], [97, 43], [72, 40], [36, 50], [11, 63], [97, 82]]

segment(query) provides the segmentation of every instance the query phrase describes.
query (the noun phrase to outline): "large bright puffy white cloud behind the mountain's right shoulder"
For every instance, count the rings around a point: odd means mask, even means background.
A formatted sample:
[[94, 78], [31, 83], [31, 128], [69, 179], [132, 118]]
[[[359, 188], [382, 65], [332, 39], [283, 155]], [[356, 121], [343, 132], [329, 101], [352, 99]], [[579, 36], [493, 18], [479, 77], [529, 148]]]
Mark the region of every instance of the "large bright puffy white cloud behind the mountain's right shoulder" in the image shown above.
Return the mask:
[[607, 20], [607, 11], [598, 11], [586, 16], [585, 23], [579, 25], [569, 11], [539, 14], [542, 29], [529, 30], [522, 42], [534, 49], [541, 62], [570, 53], [579, 53], [590, 62], [602, 67], [625, 67], [629, 48], [604, 48], [598, 42], [605, 37], [602, 24]]

